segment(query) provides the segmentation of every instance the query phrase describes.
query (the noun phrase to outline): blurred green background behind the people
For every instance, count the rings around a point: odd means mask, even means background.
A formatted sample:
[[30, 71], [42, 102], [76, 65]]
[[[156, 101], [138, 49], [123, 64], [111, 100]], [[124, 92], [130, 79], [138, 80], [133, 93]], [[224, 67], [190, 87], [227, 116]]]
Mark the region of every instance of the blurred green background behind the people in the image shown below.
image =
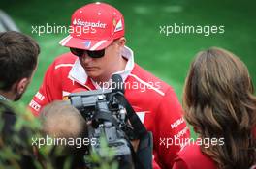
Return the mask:
[[[37, 34], [32, 27], [69, 26], [71, 15], [81, 6], [96, 1], [86, 0], [0, 0], [0, 9], [9, 14], [21, 32], [32, 36], [41, 46], [39, 67], [25, 93], [29, 103], [37, 92], [45, 71], [54, 58], [69, 49], [58, 42], [68, 33]], [[125, 18], [127, 46], [135, 61], [174, 87], [178, 98], [189, 64], [202, 49], [226, 48], [247, 65], [256, 85], [256, 1], [252, 0], [127, 0], [101, 1], [116, 7]], [[164, 34], [164, 26], [224, 26], [223, 33]]]

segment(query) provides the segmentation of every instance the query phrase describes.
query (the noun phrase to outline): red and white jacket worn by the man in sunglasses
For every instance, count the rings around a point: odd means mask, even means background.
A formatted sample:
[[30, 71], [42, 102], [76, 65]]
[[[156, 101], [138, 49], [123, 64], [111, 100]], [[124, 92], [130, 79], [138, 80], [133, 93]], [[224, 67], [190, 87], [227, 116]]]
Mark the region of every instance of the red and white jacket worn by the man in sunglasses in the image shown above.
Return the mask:
[[[175, 91], [165, 82], [134, 63], [133, 51], [124, 47], [122, 56], [127, 65], [120, 74], [125, 82], [125, 97], [133, 106], [144, 126], [153, 133], [153, 168], [171, 169], [180, 145], [175, 139], [189, 138], [189, 128], [182, 117], [182, 108]], [[100, 88], [86, 74], [78, 57], [65, 53], [49, 66], [42, 86], [29, 106], [35, 115], [53, 100], [67, 97], [76, 89]]]

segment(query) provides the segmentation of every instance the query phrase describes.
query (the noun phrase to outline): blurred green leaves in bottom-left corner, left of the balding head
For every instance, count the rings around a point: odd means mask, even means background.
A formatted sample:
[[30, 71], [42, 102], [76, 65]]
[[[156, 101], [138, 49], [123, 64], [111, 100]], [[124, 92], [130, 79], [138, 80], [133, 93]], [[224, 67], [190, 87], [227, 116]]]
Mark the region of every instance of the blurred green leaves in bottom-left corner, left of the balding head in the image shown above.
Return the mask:
[[[4, 105], [0, 109], [0, 168], [19, 169], [21, 155], [33, 156], [30, 136], [39, 131], [40, 123], [38, 119], [24, 108], [24, 105], [14, 105], [9, 102]], [[16, 116], [16, 124], [12, 128], [11, 133], [3, 132], [3, 127], [7, 122], [4, 122], [2, 115], [7, 109]], [[23, 135], [23, 130], [26, 131], [27, 135]], [[34, 162], [37, 163], [36, 160]]]

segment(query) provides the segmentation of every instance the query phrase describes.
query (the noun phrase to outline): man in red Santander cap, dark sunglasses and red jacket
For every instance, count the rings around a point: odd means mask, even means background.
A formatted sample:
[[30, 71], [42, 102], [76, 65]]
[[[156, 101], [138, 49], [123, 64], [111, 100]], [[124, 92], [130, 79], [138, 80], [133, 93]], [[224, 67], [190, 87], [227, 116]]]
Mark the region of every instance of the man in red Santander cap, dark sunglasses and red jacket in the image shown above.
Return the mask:
[[72, 15], [70, 28], [70, 35], [60, 44], [71, 52], [57, 57], [49, 66], [39, 92], [29, 104], [34, 114], [80, 88], [105, 88], [112, 74], [119, 74], [126, 99], [153, 133], [153, 168], [172, 168], [180, 150], [175, 140], [188, 138], [189, 129], [174, 90], [134, 63], [133, 51], [125, 46], [122, 14], [105, 3], [88, 4]]

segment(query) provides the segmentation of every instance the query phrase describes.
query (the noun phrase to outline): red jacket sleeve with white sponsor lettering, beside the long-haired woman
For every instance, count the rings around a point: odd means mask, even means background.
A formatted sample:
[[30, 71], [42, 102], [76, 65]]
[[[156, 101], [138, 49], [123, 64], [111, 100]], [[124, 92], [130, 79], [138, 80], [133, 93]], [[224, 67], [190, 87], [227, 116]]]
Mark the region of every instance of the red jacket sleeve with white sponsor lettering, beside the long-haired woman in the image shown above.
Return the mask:
[[190, 137], [182, 107], [170, 88], [155, 113], [154, 157], [161, 168], [171, 169], [181, 145]]

